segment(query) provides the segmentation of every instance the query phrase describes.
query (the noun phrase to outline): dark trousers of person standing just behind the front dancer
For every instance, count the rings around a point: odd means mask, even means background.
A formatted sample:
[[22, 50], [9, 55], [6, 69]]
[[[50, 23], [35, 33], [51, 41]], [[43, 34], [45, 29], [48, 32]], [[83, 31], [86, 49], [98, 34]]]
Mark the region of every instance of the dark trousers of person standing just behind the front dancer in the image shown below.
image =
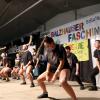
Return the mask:
[[70, 69], [70, 80], [73, 81], [77, 81], [77, 83], [80, 85], [80, 86], [83, 86], [83, 83], [79, 77], [79, 75], [75, 75], [75, 72], [76, 72], [76, 68], [73, 67]]

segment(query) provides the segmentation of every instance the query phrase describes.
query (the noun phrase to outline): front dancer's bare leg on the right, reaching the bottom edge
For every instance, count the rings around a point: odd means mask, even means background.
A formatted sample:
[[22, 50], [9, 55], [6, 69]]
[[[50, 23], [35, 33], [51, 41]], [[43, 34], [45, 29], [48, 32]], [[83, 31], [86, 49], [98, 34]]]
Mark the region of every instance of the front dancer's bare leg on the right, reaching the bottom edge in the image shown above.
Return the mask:
[[63, 87], [63, 89], [70, 95], [72, 100], [77, 100], [76, 95], [74, 93], [74, 90], [72, 87], [67, 83], [67, 74], [68, 74], [68, 69], [63, 69], [60, 72], [60, 84]]

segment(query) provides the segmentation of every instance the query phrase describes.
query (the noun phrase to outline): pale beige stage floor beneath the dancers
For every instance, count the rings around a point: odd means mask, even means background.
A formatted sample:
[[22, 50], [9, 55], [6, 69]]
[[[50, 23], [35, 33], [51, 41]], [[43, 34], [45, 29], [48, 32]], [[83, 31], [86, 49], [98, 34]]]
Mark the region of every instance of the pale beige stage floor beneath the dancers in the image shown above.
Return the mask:
[[[20, 85], [21, 80], [5, 82], [0, 80], [0, 100], [38, 100], [37, 96], [41, 94], [41, 89], [35, 81], [36, 87], [30, 88], [29, 81], [27, 85]], [[85, 90], [80, 90], [76, 82], [69, 82], [78, 97], [78, 100], [100, 100], [100, 90], [88, 91], [89, 84], [85, 84]], [[58, 81], [54, 84], [47, 84], [49, 98], [41, 100], [71, 100], [68, 94], [59, 86]]]

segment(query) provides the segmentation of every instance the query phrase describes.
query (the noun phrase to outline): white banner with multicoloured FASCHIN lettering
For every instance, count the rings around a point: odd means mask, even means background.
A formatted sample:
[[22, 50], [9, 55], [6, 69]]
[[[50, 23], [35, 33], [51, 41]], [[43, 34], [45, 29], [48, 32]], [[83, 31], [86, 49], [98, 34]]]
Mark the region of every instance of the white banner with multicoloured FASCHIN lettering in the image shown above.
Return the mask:
[[75, 42], [100, 35], [100, 13], [50, 30], [57, 43]]

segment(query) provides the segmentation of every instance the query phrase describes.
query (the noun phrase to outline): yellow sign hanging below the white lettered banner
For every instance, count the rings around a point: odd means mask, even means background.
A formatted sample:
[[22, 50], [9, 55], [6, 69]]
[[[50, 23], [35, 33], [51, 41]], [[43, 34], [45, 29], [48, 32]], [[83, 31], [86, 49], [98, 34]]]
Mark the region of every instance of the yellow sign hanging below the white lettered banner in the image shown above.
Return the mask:
[[65, 46], [70, 46], [71, 52], [77, 56], [79, 61], [89, 60], [88, 40], [65, 43]]

